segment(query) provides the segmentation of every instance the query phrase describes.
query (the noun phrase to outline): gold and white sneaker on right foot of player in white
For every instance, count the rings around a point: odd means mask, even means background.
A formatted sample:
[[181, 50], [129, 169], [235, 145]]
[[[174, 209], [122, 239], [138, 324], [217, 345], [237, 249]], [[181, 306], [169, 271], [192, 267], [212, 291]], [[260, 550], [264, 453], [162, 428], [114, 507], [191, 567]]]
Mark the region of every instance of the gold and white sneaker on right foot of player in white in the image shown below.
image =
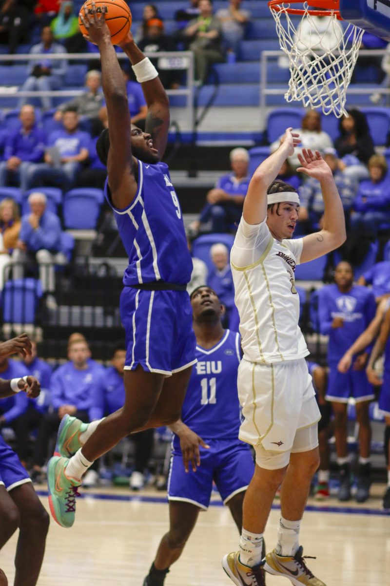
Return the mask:
[[[275, 550], [271, 551], [271, 553], [265, 556], [264, 570], [275, 576], [289, 578], [291, 584], [294, 584], [294, 586], [302, 586], [302, 584], [306, 586], [326, 586], [322, 580], [319, 580], [310, 572], [305, 564], [302, 553], [302, 546], [299, 547], [295, 556], [278, 556]], [[305, 558], [307, 557], [312, 556], [305, 556]], [[237, 584], [240, 584], [240, 582], [237, 582]]]

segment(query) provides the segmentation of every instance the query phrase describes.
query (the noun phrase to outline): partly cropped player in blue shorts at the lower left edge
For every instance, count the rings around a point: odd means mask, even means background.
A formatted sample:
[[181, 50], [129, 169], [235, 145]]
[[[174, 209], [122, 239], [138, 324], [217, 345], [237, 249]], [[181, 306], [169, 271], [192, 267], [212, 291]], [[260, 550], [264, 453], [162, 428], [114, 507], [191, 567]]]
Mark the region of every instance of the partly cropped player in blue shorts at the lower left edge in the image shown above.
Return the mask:
[[[0, 343], [0, 356], [20, 353], [30, 355], [31, 343], [26, 334]], [[40, 383], [33, 376], [0, 379], [0, 398], [24, 392], [39, 396]], [[35, 586], [43, 561], [49, 515], [36, 495], [30, 476], [0, 435], [0, 550], [19, 528], [15, 556], [14, 586]], [[8, 581], [0, 571], [0, 584]]]

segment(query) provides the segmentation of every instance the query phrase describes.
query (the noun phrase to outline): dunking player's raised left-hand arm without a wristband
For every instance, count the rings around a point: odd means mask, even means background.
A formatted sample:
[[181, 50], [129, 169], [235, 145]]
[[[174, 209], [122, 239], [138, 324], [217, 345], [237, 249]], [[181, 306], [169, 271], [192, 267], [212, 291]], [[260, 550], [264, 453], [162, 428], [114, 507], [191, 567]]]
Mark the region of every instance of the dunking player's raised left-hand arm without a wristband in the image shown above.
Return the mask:
[[102, 87], [106, 100], [110, 146], [107, 171], [112, 203], [115, 207], [127, 207], [137, 192], [131, 148], [129, 102], [125, 80], [120, 69], [111, 34], [105, 21], [96, 16], [95, 3], [91, 11], [84, 8], [82, 19], [88, 30], [88, 40], [98, 45], [102, 63]]

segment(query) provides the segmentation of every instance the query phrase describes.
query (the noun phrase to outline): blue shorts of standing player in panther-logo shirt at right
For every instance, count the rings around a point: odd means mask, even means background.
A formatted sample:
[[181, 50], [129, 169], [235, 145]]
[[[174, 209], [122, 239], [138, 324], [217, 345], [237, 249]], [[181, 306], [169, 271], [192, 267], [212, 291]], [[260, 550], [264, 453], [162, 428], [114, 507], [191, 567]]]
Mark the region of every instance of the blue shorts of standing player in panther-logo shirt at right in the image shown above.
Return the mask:
[[337, 364], [329, 365], [329, 379], [326, 398], [335, 403], [348, 403], [348, 398], [353, 397], [356, 403], [371, 401], [375, 398], [374, 387], [368, 382], [365, 370], [353, 370], [341, 373], [337, 370]]

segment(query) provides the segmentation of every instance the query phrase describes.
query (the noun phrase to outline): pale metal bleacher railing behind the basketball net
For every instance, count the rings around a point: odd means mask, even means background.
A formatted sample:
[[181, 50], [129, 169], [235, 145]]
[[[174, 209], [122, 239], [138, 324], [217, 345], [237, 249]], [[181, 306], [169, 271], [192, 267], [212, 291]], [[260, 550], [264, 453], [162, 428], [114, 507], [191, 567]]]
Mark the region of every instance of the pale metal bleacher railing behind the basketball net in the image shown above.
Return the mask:
[[[386, 53], [386, 49], [361, 49], [359, 51], [359, 57], [383, 57]], [[285, 84], [280, 87], [269, 87], [270, 84], [276, 85], [278, 82], [270, 82], [268, 81], [268, 71], [267, 67], [268, 64], [272, 62], [272, 60], [278, 59], [279, 57], [287, 56], [279, 50], [270, 50], [270, 51], [263, 51], [260, 56], [260, 107], [265, 108], [267, 107], [267, 97], [268, 96], [284, 96], [287, 91], [287, 87]], [[358, 65], [358, 63], [357, 63]], [[279, 66], [278, 66], [279, 67]], [[288, 67], [280, 69], [288, 70]], [[359, 86], [353, 87], [353, 85], [348, 87], [347, 96], [356, 96], [362, 94], [373, 94], [378, 93], [383, 96], [389, 96], [390, 94], [390, 87], [382, 87], [374, 84], [368, 84], [367, 86]], [[390, 97], [389, 97], [390, 100]], [[298, 102], [295, 105], [299, 105]]]

